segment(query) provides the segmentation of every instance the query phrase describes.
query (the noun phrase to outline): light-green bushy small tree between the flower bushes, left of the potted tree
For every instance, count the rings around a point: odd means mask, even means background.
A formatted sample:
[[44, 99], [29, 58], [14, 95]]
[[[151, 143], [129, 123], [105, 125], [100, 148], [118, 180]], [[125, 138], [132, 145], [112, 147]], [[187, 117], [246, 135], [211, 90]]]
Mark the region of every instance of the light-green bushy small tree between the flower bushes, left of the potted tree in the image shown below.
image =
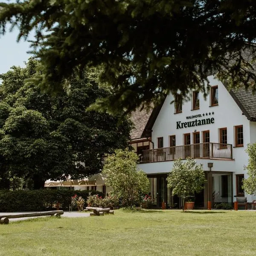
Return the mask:
[[149, 180], [137, 169], [138, 160], [136, 153], [118, 149], [108, 156], [102, 170], [107, 175], [106, 185], [113, 188], [113, 195], [122, 198], [124, 207], [139, 205], [142, 195], [148, 191]]

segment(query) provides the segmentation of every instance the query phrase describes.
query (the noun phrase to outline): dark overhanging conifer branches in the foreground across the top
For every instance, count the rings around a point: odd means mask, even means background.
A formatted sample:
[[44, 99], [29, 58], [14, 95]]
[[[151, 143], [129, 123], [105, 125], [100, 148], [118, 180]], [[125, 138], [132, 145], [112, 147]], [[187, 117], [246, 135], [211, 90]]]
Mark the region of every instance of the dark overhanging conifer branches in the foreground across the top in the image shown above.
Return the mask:
[[209, 72], [255, 89], [255, 9], [252, 0], [17, 0], [0, 3], [0, 33], [9, 22], [18, 40], [35, 32], [49, 90], [70, 85], [76, 67], [101, 65], [113, 93], [95, 108], [129, 111], [169, 92], [207, 93]]

